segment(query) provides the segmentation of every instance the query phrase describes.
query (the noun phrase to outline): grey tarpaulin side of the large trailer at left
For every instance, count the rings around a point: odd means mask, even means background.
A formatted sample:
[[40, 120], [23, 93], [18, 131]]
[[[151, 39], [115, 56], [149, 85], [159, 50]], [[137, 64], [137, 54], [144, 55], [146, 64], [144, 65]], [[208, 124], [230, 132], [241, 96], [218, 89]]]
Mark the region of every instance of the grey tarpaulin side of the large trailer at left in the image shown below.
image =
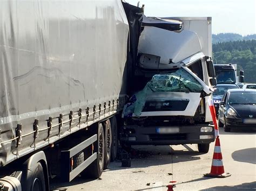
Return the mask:
[[3, 0], [0, 18], [0, 166], [69, 135], [71, 119], [80, 128], [79, 108], [90, 120], [116, 110], [129, 34], [121, 1]]

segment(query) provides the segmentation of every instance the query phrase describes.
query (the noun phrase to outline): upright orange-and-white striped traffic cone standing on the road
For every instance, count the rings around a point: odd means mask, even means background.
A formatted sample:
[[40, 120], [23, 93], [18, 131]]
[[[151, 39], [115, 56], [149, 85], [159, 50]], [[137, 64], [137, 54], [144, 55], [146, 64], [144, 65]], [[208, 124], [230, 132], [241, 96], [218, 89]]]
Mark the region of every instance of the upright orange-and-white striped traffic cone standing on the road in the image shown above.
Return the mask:
[[228, 176], [231, 176], [230, 173], [224, 172], [219, 136], [216, 137], [215, 141], [211, 172], [204, 174], [204, 176], [215, 178], [226, 178]]

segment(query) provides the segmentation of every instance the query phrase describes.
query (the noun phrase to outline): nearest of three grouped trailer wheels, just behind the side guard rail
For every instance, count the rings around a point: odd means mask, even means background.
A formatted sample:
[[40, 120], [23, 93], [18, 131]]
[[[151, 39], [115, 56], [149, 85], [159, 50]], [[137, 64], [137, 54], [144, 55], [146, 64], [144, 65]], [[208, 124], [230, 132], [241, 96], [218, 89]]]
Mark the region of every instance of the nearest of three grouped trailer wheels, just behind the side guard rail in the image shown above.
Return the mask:
[[98, 124], [98, 141], [95, 144], [95, 150], [97, 152], [97, 159], [93, 161], [82, 173], [81, 176], [86, 178], [99, 178], [102, 175], [104, 168], [105, 157], [105, 138], [104, 129], [101, 123]]

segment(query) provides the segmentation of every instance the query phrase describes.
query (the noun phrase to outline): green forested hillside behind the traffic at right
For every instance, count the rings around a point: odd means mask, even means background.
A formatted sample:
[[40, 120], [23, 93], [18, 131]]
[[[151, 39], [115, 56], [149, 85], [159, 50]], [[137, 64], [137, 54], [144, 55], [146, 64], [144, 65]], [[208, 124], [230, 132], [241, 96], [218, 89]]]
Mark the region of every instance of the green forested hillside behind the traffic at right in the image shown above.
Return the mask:
[[212, 49], [214, 63], [236, 63], [245, 72], [245, 82], [256, 83], [256, 40], [217, 43]]

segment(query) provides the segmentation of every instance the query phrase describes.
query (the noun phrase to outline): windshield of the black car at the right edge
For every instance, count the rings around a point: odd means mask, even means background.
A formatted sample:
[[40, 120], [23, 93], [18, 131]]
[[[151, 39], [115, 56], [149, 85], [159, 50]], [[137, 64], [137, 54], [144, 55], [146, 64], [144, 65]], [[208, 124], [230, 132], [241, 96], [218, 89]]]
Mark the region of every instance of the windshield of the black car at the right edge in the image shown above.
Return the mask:
[[256, 91], [231, 92], [228, 97], [229, 104], [256, 104]]

